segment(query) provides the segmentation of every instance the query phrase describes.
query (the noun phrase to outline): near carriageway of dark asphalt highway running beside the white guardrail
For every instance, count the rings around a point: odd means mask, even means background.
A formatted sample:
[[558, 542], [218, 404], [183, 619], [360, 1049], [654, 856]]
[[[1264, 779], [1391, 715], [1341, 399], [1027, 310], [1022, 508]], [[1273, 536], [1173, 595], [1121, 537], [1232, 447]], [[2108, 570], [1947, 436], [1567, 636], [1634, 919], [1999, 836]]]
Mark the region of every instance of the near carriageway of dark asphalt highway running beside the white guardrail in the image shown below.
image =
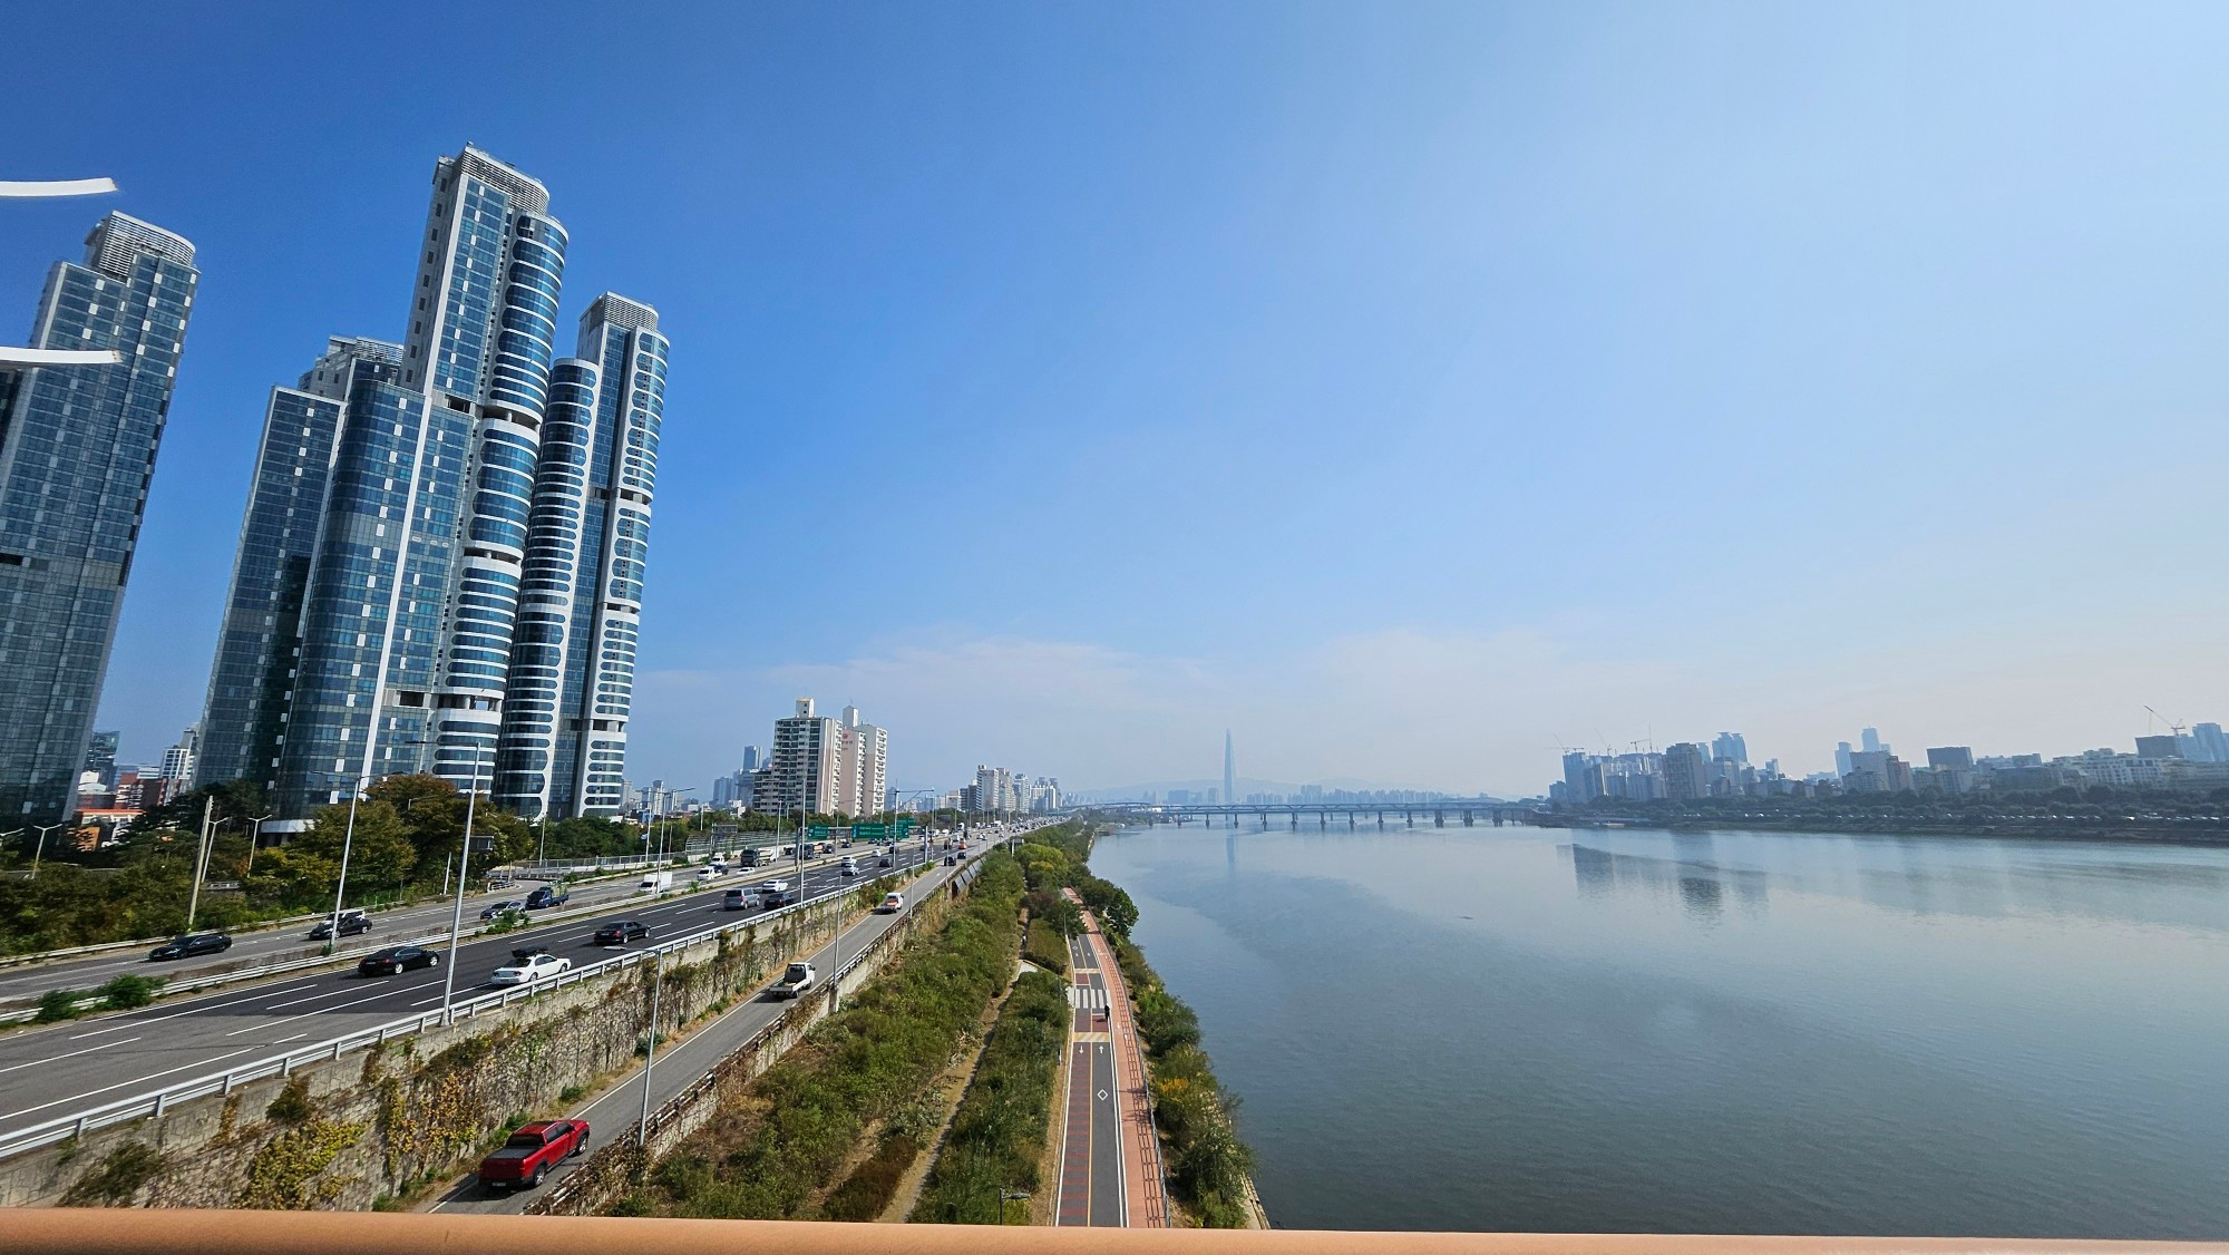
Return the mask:
[[[916, 840], [901, 849], [901, 865], [921, 863], [921, 845]], [[811, 867], [802, 876], [805, 896], [863, 883], [880, 872], [872, 863], [874, 849], [854, 847], [849, 854], [865, 863], [858, 878], [843, 876], [834, 863]], [[502, 967], [517, 945], [544, 945], [575, 963], [588, 963], [606, 956], [606, 950], [593, 943], [595, 927], [604, 921], [642, 921], [651, 927], [649, 941], [658, 943], [742, 918], [722, 912], [724, 889], [756, 885], [767, 876], [798, 881], [796, 872], [782, 867], [729, 874], [704, 892], [666, 901], [644, 896], [637, 903], [613, 903], [611, 912], [597, 916], [468, 941], [455, 956], [444, 954], [444, 963], [455, 959], [457, 996], [464, 999], [486, 992], [488, 974]], [[437, 1008], [441, 979], [439, 967], [399, 976], [317, 972], [163, 1001], [127, 1014], [0, 1034], [0, 1132], [250, 1063], [290, 1043], [323, 1041]]]

